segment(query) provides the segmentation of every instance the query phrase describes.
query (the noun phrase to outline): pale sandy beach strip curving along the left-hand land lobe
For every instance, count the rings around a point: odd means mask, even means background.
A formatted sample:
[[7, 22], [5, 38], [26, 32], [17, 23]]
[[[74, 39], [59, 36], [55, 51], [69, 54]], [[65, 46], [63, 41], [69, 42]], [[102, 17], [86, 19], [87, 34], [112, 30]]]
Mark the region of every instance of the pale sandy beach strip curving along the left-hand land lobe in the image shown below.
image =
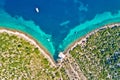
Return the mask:
[[23, 33], [21, 31], [18, 31], [18, 30], [11, 30], [11, 29], [7, 29], [7, 28], [0, 28], [0, 33], [2, 33], [2, 32], [6, 32], [8, 34], [10, 33], [10, 34], [16, 35], [18, 37], [21, 37], [21, 38], [27, 40], [28, 42], [30, 42], [31, 44], [33, 44], [40, 50], [41, 54], [43, 54], [44, 57], [48, 59], [48, 61], [52, 64], [52, 66], [56, 67], [56, 63], [53, 60], [53, 58], [51, 57], [51, 55], [49, 54], [49, 52], [42, 45], [40, 45], [34, 38], [32, 38], [30, 35]]

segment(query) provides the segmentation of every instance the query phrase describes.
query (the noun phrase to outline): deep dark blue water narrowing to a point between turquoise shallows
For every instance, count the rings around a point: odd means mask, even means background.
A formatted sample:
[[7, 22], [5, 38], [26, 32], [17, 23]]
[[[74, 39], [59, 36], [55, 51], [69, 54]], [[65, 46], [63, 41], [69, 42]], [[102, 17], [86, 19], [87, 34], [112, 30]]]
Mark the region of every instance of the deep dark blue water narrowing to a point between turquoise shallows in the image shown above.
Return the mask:
[[[39, 13], [35, 11], [36, 7]], [[5, 0], [2, 8], [12, 17], [22, 16], [26, 21], [34, 21], [43, 32], [51, 35], [55, 48], [53, 56], [56, 58], [58, 52], [65, 49], [59, 46], [70, 30], [92, 20], [97, 14], [116, 14], [120, 10], [120, 0]], [[68, 24], [61, 26], [65, 21], [69, 21]], [[92, 27], [89, 28], [84, 30], [89, 32]]]

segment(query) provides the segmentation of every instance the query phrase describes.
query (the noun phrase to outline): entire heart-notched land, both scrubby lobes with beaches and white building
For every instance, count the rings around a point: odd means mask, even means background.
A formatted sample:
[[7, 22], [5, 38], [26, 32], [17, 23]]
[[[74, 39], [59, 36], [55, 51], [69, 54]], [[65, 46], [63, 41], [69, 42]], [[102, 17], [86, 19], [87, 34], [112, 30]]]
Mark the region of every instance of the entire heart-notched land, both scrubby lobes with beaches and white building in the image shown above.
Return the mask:
[[57, 62], [43, 46], [30, 35], [0, 28], [0, 80], [120, 79], [120, 23], [76, 40]]

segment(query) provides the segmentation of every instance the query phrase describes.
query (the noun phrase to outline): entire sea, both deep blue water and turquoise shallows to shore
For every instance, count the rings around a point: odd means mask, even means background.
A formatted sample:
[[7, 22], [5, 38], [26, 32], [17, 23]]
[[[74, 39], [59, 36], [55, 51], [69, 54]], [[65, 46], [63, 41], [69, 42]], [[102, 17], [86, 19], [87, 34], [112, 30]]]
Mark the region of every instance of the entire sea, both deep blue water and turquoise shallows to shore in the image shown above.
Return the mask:
[[0, 0], [0, 26], [31, 35], [55, 60], [75, 40], [115, 22], [120, 0]]

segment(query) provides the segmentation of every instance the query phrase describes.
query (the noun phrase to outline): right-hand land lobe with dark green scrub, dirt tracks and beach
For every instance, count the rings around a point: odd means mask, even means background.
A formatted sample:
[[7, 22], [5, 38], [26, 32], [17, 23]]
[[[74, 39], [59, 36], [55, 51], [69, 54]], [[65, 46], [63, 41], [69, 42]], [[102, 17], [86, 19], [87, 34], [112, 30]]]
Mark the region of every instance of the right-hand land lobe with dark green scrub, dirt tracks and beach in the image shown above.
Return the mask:
[[76, 40], [64, 51], [70, 80], [119, 80], [120, 23], [108, 24]]

